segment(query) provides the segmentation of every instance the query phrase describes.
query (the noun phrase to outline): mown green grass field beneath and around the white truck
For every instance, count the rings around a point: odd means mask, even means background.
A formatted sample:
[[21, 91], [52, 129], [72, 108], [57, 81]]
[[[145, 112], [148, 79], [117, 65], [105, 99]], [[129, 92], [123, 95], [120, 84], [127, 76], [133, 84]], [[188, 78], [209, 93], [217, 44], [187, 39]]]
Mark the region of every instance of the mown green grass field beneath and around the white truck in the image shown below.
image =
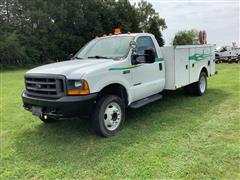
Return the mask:
[[240, 66], [217, 70], [204, 96], [166, 92], [111, 138], [43, 124], [22, 108], [25, 70], [1, 72], [1, 179], [240, 179]]

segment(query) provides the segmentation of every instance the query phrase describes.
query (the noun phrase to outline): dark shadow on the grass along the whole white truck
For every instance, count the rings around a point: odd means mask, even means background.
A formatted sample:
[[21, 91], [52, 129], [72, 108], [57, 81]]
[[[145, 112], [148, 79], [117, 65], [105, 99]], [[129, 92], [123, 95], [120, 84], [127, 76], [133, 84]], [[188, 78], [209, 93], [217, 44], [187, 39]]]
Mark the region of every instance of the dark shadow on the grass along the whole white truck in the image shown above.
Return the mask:
[[[186, 96], [182, 90], [165, 91], [163, 94], [164, 98], [158, 102], [137, 110], [128, 109], [124, 129], [114, 137], [96, 136], [89, 119], [69, 119], [47, 125], [39, 123], [16, 137], [16, 151], [21, 159], [46, 167], [53, 166], [55, 162], [77, 162], [78, 159], [89, 163], [96, 157], [98, 161], [105, 161], [135, 143], [146, 141], [155, 133], [180, 130], [181, 126], [191, 123], [194, 126], [201, 124], [201, 115], [214, 110], [229, 96], [220, 89], [208, 89], [202, 97]], [[195, 114], [198, 119], [189, 119], [187, 114]], [[49, 157], [53, 161], [49, 161]]]

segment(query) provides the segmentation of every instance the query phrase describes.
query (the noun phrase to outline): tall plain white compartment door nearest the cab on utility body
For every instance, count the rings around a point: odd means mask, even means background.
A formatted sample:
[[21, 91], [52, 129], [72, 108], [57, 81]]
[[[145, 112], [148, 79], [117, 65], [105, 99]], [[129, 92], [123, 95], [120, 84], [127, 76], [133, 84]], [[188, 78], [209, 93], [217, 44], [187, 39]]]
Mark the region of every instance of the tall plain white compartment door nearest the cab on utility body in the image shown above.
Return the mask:
[[175, 87], [180, 88], [189, 84], [189, 50], [175, 49]]

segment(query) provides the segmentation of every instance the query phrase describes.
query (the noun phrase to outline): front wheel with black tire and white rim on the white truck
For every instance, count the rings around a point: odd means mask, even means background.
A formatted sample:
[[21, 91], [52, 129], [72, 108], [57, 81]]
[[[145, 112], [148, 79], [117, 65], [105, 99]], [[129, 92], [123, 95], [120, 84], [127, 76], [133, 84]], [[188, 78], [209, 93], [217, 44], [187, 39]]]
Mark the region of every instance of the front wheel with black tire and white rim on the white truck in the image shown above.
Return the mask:
[[125, 121], [123, 100], [115, 95], [105, 95], [97, 101], [92, 115], [94, 131], [104, 137], [116, 134]]

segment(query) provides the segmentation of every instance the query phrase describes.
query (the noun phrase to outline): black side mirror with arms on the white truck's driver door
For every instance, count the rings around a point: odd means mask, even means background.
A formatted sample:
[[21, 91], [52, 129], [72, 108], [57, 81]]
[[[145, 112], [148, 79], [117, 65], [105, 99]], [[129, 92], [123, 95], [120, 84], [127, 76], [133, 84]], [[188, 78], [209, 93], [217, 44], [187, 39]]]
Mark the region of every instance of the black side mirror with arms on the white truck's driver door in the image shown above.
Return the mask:
[[146, 49], [144, 54], [132, 54], [132, 64], [154, 63], [156, 53], [152, 49]]

